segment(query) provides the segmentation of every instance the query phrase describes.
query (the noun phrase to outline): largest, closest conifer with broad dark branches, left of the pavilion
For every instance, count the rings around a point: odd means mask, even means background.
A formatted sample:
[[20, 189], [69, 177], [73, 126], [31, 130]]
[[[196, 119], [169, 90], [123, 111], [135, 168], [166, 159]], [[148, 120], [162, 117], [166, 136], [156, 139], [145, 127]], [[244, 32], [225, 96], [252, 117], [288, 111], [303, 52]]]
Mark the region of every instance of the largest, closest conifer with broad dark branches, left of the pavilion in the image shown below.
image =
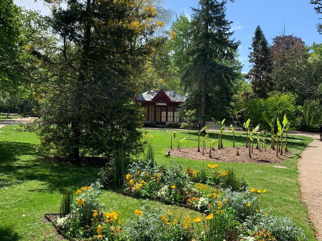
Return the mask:
[[45, 1], [67, 7], [48, 19], [57, 42], [32, 50], [52, 77], [31, 129], [44, 148], [75, 160], [135, 153], [143, 120], [133, 100], [163, 24], [156, 10], [138, 0]]

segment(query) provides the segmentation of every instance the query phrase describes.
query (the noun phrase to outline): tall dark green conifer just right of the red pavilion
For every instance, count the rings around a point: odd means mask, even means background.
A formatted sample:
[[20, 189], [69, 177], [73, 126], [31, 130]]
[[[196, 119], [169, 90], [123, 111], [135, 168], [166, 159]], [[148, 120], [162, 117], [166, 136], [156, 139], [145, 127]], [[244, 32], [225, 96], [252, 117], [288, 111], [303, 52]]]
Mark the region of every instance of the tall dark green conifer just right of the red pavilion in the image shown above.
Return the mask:
[[[191, 44], [182, 81], [189, 92], [189, 103], [199, 109], [201, 128], [211, 116], [223, 119], [231, 99], [231, 82], [235, 77], [234, 54], [240, 42], [231, 40], [232, 22], [226, 20], [227, 1], [200, 0], [191, 22]], [[228, 64], [227, 64], [228, 63]], [[210, 106], [214, 112], [210, 111]]]

